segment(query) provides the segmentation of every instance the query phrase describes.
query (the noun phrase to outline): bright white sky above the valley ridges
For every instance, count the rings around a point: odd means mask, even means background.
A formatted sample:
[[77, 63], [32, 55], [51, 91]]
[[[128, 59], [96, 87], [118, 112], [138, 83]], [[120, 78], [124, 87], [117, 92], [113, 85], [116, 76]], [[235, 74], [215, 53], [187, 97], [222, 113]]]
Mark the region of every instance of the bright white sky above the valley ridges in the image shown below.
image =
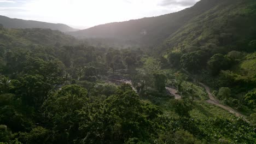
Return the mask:
[[0, 0], [0, 15], [88, 28], [173, 13], [199, 0]]

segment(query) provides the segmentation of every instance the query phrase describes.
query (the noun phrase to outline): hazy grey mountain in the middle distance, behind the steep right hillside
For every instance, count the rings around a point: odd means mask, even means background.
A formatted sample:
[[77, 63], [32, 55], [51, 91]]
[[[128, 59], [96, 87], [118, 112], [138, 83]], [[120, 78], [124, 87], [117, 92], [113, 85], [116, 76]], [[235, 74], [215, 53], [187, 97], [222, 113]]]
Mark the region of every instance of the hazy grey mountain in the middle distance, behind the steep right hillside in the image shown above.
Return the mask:
[[202, 0], [177, 13], [146, 17], [125, 22], [113, 22], [69, 34], [78, 38], [112, 38], [138, 44], [158, 45], [172, 33], [222, 0]]

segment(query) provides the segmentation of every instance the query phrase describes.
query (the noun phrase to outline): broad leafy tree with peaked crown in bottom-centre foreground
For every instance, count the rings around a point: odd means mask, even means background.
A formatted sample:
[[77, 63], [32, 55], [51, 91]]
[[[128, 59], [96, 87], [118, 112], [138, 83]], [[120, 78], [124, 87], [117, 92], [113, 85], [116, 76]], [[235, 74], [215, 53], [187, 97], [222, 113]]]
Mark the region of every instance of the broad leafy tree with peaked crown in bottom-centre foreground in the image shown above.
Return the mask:
[[122, 84], [103, 104], [92, 104], [79, 112], [80, 133], [87, 134], [79, 142], [125, 143], [135, 137], [149, 141], [161, 114], [159, 107], [143, 103], [130, 85]]

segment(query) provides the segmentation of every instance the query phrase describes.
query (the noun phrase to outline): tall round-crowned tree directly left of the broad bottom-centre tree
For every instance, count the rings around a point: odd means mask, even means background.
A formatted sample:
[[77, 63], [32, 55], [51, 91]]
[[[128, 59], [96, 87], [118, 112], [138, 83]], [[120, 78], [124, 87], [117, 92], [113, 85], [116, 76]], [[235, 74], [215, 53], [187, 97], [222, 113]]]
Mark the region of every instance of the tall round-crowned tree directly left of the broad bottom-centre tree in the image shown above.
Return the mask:
[[51, 95], [44, 103], [44, 118], [55, 131], [54, 142], [71, 143], [78, 137], [81, 119], [78, 113], [88, 106], [88, 92], [78, 85], [67, 85]]

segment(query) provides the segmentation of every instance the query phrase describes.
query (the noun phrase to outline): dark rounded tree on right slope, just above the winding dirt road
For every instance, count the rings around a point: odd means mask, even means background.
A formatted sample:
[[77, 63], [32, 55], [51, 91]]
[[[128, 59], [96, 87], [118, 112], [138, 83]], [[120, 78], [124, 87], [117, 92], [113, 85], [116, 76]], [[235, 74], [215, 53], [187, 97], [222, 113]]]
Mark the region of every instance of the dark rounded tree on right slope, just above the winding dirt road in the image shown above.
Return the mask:
[[216, 54], [207, 62], [208, 68], [212, 75], [218, 75], [220, 70], [228, 70], [231, 65], [231, 60], [222, 54]]

